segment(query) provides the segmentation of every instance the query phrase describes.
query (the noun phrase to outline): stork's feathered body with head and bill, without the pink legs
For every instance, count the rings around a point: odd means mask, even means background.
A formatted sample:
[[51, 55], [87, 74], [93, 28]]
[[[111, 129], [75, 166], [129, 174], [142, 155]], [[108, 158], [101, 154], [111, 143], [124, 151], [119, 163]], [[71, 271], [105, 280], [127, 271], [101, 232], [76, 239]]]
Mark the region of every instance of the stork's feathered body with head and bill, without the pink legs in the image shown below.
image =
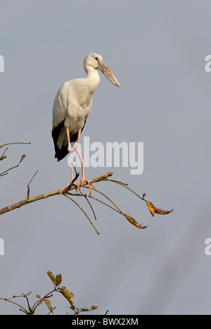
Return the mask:
[[[91, 111], [92, 95], [100, 83], [97, 69], [101, 70], [110, 82], [120, 87], [113, 73], [103, 63], [102, 56], [96, 53], [88, 54], [84, 59], [84, 70], [87, 77], [65, 82], [54, 99], [52, 136], [57, 154], [61, 148], [68, 145], [66, 128], [68, 128], [71, 142], [72, 136], [76, 136], [75, 134], [82, 130], [87, 121]], [[62, 126], [60, 126], [61, 123], [63, 123]], [[58, 158], [58, 156], [56, 157]]]

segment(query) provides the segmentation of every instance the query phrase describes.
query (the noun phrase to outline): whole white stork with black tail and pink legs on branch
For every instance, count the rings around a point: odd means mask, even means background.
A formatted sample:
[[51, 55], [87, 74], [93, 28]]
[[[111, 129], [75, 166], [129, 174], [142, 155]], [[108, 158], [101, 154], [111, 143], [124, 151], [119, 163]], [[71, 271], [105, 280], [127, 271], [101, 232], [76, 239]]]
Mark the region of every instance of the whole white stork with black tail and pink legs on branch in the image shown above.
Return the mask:
[[[97, 70], [101, 70], [113, 85], [120, 87], [120, 82], [104, 63], [101, 55], [96, 53], [88, 54], [84, 58], [83, 66], [87, 77], [75, 78], [63, 83], [53, 101], [51, 135], [55, 148], [55, 158], [60, 161], [68, 153], [70, 154], [71, 181], [61, 190], [60, 194], [71, 185], [75, 185], [82, 194], [80, 187], [83, 186], [84, 182], [89, 185], [90, 194], [91, 187], [94, 187], [89, 180], [85, 179], [84, 161], [80, 154], [79, 140], [91, 111], [93, 94], [100, 83], [100, 75]], [[73, 175], [72, 142], [77, 142], [75, 151], [82, 165], [82, 178], [79, 184], [75, 182]]]

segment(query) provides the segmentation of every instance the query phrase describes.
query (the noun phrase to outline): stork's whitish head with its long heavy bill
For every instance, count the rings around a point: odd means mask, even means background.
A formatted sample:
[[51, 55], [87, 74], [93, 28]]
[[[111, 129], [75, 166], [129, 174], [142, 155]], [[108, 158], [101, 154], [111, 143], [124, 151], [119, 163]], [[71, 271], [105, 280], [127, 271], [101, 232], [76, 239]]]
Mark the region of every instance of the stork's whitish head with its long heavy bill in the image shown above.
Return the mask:
[[106, 63], [103, 62], [103, 57], [101, 55], [96, 53], [88, 54], [84, 59], [84, 70], [87, 72], [89, 67], [101, 70], [113, 85], [120, 87], [120, 82], [118, 82], [117, 78], [113, 75]]

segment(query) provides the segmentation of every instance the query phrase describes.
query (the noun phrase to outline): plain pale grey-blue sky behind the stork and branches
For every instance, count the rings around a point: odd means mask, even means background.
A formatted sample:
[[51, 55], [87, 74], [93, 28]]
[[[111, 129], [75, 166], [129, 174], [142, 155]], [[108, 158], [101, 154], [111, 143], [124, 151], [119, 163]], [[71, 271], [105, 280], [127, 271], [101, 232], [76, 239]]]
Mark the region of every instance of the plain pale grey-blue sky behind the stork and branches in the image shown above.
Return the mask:
[[[98, 305], [93, 314], [210, 314], [210, 11], [206, 0], [0, 1], [0, 144], [32, 143], [12, 145], [1, 161], [3, 171], [26, 154], [1, 178], [0, 207], [26, 197], [37, 169], [31, 196], [68, 184], [67, 159], [54, 159], [53, 99], [63, 82], [85, 76], [84, 57], [96, 52], [121, 88], [100, 73], [83, 137], [143, 142], [144, 169], [86, 168], [87, 178], [113, 170], [155, 206], [174, 208], [153, 218], [143, 201], [102, 182], [97, 187], [146, 230], [92, 201], [98, 236], [63, 196], [6, 213], [0, 297], [48, 292], [51, 270], [63, 275], [76, 306]], [[68, 311], [60, 296], [52, 303], [56, 314]], [[19, 311], [1, 302], [0, 314]]]

